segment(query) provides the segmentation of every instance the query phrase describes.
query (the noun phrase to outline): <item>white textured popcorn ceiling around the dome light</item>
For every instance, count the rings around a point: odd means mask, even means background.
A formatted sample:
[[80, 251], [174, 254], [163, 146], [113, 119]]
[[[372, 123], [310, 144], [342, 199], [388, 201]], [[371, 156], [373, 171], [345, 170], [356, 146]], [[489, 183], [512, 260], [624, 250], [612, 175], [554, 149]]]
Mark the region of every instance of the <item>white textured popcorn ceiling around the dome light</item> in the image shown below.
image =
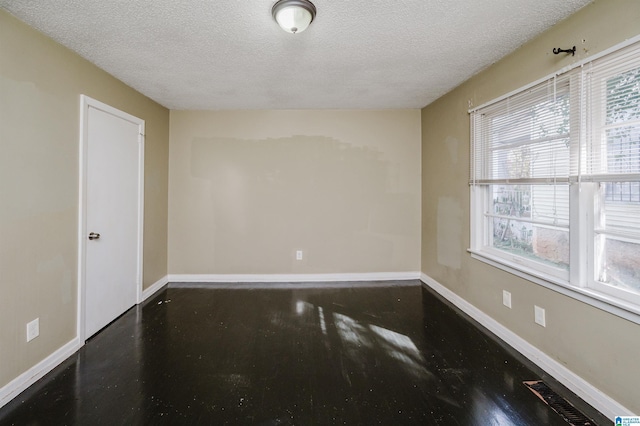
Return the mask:
[[275, 0], [0, 7], [170, 109], [348, 109], [423, 107], [589, 1], [314, 0], [300, 34]]

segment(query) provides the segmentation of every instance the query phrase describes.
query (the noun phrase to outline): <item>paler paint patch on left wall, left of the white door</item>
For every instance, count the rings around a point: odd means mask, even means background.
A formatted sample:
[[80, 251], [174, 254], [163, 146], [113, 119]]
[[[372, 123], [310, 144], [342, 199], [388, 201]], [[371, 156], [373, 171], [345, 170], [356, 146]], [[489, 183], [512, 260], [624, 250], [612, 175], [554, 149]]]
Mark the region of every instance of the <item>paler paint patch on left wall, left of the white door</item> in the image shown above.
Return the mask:
[[[11, 200], [0, 203], [3, 225], [66, 211], [77, 203], [77, 191], [67, 188], [78, 177], [77, 169], [68, 167], [73, 164], [69, 157], [77, 155], [77, 146], [67, 143], [64, 135], [75, 133], [66, 132], [61, 120], [53, 119], [51, 114], [51, 111], [65, 110], [64, 104], [53, 94], [41, 91], [35, 83], [4, 77], [0, 77], [0, 93], [12, 100], [0, 105], [3, 152], [0, 198]], [[38, 125], [13, 124], [25, 122], [25, 117], [29, 117], [29, 123]], [[52, 129], [56, 137], [51, 136]], [[20, 185], [8, 182], [20, 182]], [[52, 191], [53, 187], [65, 189]]]

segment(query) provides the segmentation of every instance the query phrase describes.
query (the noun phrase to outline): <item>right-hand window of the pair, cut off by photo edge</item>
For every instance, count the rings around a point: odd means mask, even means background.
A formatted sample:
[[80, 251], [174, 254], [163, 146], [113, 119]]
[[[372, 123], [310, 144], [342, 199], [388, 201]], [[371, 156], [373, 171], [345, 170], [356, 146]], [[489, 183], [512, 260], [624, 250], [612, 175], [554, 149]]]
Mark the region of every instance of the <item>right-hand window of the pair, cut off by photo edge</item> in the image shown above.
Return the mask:
[[[596, 185], [593, 281], [614, 296], [640, 294], [640, 59], [638, 47], [590, 64], [584, 180]], [[591, 277], [590, 277], [591, 278]]]

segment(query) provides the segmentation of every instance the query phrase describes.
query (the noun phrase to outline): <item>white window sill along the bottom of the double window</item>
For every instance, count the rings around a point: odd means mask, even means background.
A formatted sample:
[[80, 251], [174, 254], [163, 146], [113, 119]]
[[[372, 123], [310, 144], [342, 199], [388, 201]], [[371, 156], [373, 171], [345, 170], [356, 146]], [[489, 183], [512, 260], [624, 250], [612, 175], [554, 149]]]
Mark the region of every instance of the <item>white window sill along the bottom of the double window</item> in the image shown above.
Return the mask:
[[609, 312], [610, 314], [619, 316], [636, 324], [640, 324], [639, 306], [589, 288], [572, 286], [561, 279], [536, 273], [535, 271], [525, 268], [515, 262], [509, 262], [485, 252], [472, 249], [468, 249], [467, 251], [471, 253], [471, 257], [473, 259], [494, 266], [527, 281], [539, 284], [565, 296], [579, 300], [587, 305]]

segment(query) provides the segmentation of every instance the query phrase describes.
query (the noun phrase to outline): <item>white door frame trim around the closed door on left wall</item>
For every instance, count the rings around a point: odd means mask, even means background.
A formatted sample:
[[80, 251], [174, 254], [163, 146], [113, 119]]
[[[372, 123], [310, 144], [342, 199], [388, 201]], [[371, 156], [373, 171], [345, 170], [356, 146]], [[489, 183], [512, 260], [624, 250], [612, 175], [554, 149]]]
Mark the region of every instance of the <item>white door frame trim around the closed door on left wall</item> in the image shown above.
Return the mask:
[[138, 126], [138, 220], [136, 256], [136, 303], [142, 301], [142, 262], [144, 230], [144, 120], [120, 111], [86, 95], [80, 95], [80, 150], [78, 188], [78, 307], [77, 336], [84, 345], [86, 319], [86, 259], [87, 259], [87, 151], [89, 143], [89, 108], [94, 108]]

